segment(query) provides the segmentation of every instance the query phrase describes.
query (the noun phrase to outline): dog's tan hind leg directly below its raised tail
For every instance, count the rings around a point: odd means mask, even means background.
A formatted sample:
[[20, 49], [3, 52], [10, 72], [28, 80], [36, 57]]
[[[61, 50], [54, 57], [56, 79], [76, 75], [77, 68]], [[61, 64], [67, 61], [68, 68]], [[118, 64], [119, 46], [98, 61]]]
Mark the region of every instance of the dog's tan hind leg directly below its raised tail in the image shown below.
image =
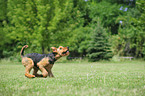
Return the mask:
[[28, 78], [34, 78], [35, 75], [31, 75], [30, 71], [34, 67], [34, 62], [31, 58], [24, 57], [22, 59], [22, 64], [25, 66], [25, 76]]

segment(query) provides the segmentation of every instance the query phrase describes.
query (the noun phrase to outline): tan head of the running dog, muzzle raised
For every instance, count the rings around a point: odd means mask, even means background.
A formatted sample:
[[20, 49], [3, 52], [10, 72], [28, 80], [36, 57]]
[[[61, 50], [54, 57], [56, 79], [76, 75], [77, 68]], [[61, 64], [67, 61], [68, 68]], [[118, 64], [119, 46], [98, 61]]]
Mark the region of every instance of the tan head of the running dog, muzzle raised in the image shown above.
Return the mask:
[[69, 47], [62, 47], [59, 46], [58, 48], [56, 47], [51, 47], [53, 53], [55, 53], [56, 55], [60, 55], [60, 56], [68, 56], [69, 55]]

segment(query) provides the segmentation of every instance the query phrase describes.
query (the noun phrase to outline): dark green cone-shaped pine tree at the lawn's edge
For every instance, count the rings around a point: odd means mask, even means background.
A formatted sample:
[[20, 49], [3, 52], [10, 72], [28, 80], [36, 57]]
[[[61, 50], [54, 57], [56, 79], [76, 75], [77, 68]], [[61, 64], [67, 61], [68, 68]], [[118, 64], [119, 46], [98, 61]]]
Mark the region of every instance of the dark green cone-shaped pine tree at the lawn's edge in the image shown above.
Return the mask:
[[106, 30], [100, 24], [97, 23], [92, 33], [92, 40], [90, 41], [88, 48], [89, 61], [108, 60], [112, 57], [110, 50], [110, 44], [108, 41], [108, 35]]

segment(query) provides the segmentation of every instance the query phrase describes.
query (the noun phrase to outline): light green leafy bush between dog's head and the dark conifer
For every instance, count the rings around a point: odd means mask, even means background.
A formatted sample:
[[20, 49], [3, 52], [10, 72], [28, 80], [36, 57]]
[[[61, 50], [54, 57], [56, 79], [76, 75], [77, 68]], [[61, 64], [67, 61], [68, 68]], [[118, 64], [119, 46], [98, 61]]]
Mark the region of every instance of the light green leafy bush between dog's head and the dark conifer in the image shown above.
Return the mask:
[[75, 56], [76, 53], [80, 53], [80, 56], [87, 54], [88, 44], [91, 39], [90, 33], [91, 29], [89, 27], [80, 27], [72, 32], [69, 39], [71, 56]]

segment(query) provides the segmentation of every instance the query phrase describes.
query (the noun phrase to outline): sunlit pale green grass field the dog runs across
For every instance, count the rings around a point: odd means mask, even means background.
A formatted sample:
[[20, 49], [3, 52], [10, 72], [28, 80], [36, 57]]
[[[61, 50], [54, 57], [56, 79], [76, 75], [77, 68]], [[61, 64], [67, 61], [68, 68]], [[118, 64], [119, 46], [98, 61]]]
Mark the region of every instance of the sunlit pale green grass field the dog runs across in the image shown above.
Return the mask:
[[56, 63], [55, 78], [28, 79], [19, 62], [0, 63], [0, 96], [145, 96], [145, 62]]

